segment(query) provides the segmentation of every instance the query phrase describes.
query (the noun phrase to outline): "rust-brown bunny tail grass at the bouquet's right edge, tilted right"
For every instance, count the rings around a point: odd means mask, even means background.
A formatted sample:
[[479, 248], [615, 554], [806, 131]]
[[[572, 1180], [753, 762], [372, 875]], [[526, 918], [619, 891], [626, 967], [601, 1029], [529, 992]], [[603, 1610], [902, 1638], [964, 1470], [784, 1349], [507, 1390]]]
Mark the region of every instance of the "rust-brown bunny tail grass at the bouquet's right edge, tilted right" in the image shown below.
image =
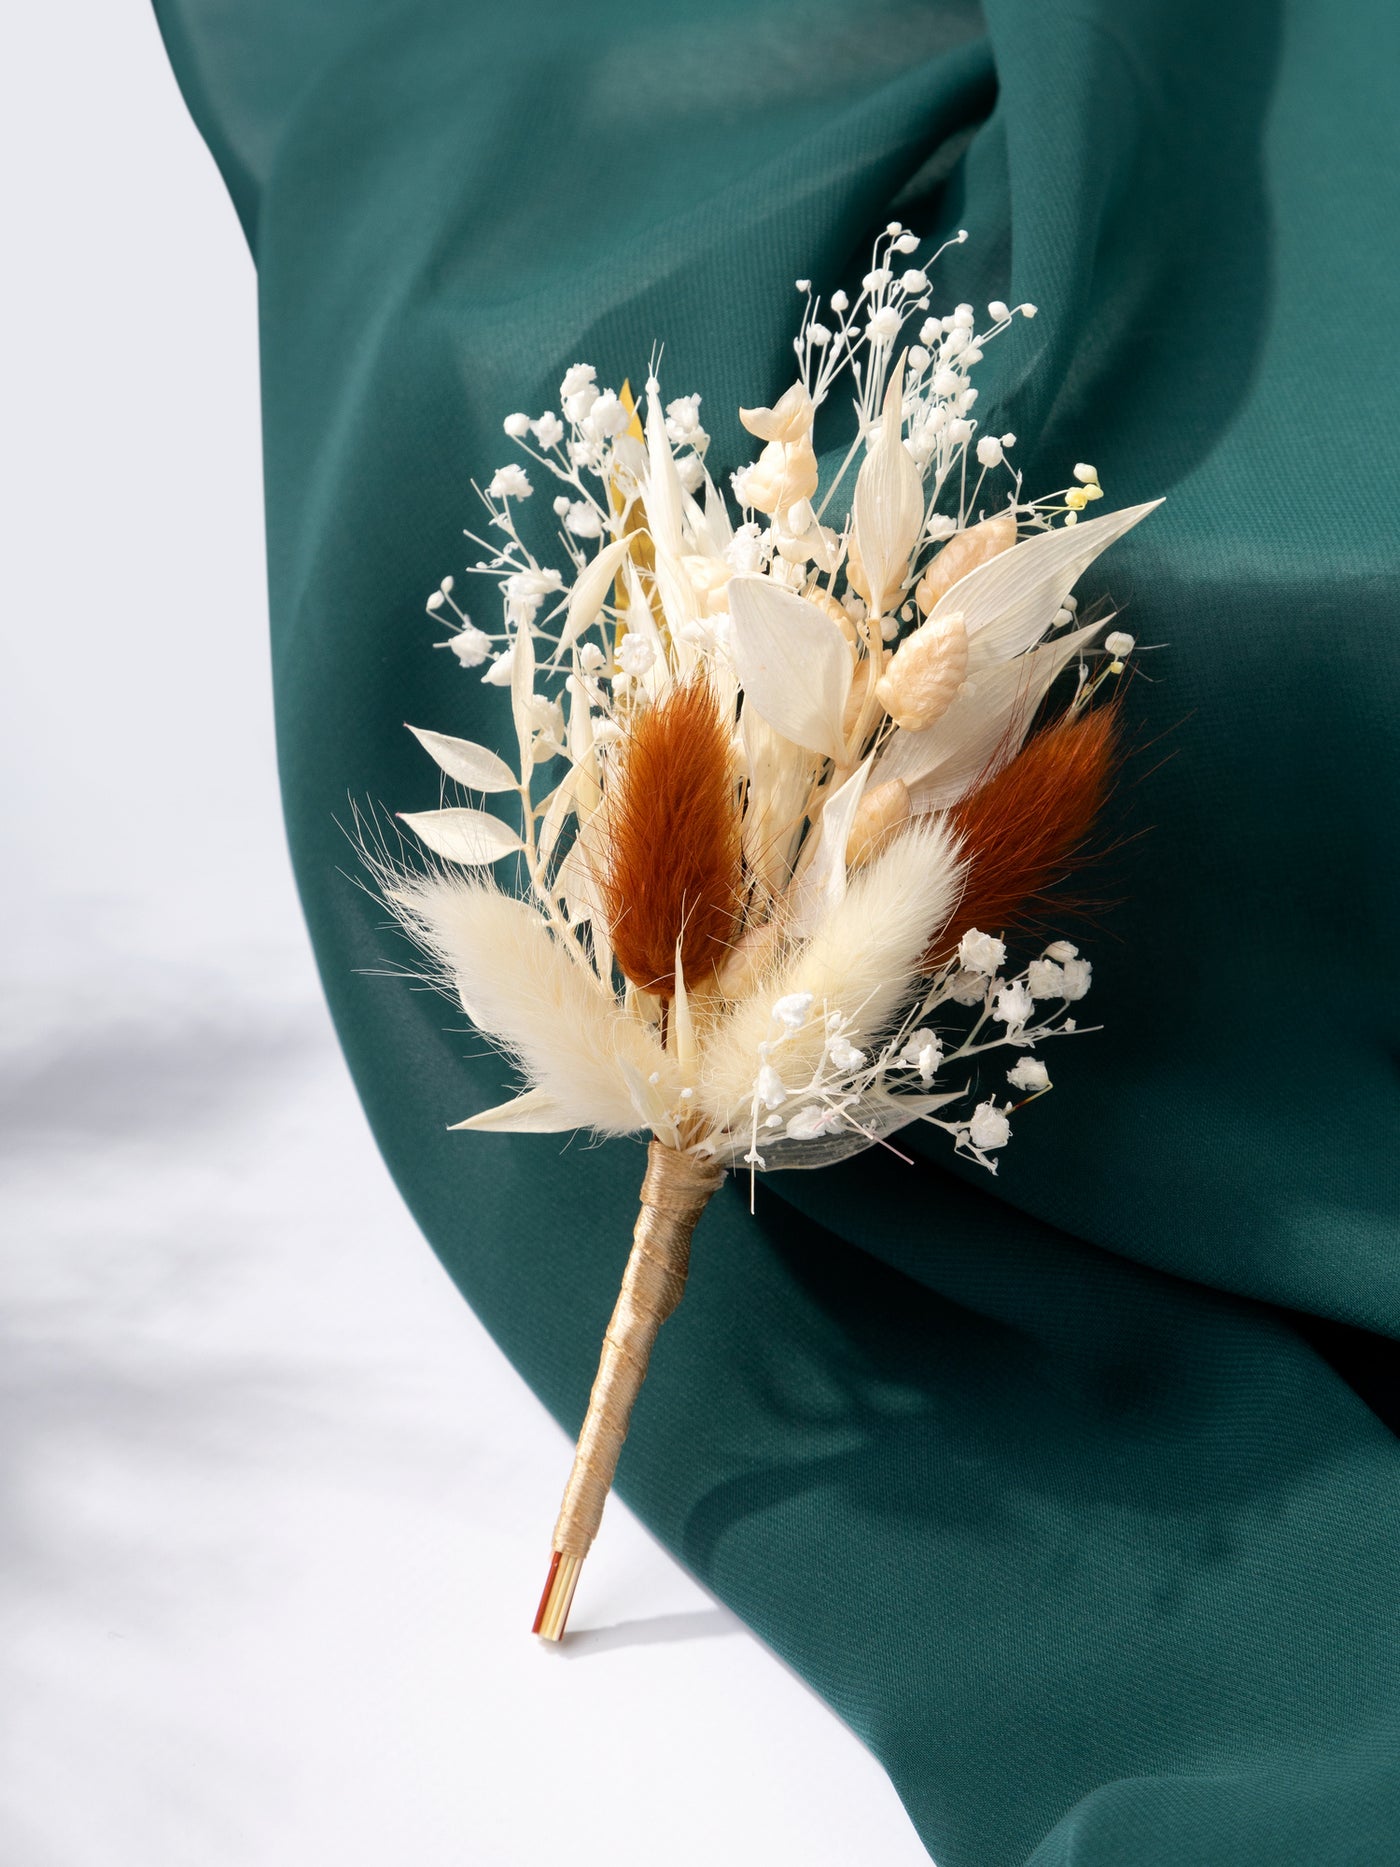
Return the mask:
[[971, 928], [1004, 934], [1034, 920], [1049, 891], [1090, 861], [1088, 835], [1118, 765], [1116, 715], [1116, 702], [1066, 713], [948, 812], [969, 870], [926, 954], [930, 971]]

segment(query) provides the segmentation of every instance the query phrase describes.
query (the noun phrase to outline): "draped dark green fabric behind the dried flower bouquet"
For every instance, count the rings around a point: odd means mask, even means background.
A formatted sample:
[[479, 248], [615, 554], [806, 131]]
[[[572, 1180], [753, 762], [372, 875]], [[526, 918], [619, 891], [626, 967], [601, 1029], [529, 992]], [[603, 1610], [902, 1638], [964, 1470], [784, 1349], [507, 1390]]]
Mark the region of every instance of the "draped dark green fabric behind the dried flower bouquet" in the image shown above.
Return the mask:
[[1040, 306], [978, 409], [1029, 489], [1088, 459], [1109, 504], [1167, 495], [1090, 579], [1165, 644], [1127, 698], [1124, 904], [1079, 935], [1105, 1031], [1057, 1049], [995, 1182], [917, 1133], [913, 1167], [775, 1176], [754, 1217], [726, 1187], [620, 1488], [941, 1867], [1400, 1858], [1396, 9], [159, 13], [259, 269], [327, 993], [405, 1199], [571, 1430], [642, 1150], [444, 1131], [506, 1074], [370, 976], [392, 937], [340, 829], [437, 803], [401, 721], [506, 736], [420, 607], [472, 556], [500, 418], [575, 360], [637, 383], [665, 340], [737, 465], [793, 278], [849, 286], [894, 213], [971, 230], [948, 304]]

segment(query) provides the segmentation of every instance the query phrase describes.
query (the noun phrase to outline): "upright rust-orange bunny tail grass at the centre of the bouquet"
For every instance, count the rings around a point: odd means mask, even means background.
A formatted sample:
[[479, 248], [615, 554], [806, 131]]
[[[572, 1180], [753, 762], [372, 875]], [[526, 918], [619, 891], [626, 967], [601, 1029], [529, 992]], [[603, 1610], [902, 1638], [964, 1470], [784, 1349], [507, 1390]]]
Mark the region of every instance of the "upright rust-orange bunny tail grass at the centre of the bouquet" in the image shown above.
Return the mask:
[[622, 739], [599, 814], [599, 883], [612, 950], [644, 991], [676, 990], [728, 952], [743, 905], [730, 741], [704, 680], [674, 687]]

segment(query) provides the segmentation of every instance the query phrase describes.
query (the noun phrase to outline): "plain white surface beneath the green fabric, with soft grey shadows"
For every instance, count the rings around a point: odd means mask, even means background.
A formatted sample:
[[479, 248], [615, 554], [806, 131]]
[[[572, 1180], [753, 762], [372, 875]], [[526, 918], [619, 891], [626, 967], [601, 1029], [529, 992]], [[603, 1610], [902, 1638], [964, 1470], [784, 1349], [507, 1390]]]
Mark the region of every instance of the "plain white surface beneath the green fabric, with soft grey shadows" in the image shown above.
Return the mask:
[[525, 1632], [569, 1449], [388, 1184], [282, 849], [252, 267], [138, 0], [26, 9], [4, 82], [0, 1861], [926, 1861], [620, 1503]]

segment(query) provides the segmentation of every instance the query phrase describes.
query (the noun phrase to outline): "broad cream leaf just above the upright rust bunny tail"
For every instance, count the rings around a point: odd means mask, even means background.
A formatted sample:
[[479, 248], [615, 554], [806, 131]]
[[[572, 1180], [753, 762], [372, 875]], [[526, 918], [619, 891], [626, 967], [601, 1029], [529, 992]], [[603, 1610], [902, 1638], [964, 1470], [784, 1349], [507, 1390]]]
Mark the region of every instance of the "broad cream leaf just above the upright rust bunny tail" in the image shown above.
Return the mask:
[[734, 577], [730, 622], [745, 704], [793, 745], [842, 760], [851, 650], [831, 616], [765, 577]]

